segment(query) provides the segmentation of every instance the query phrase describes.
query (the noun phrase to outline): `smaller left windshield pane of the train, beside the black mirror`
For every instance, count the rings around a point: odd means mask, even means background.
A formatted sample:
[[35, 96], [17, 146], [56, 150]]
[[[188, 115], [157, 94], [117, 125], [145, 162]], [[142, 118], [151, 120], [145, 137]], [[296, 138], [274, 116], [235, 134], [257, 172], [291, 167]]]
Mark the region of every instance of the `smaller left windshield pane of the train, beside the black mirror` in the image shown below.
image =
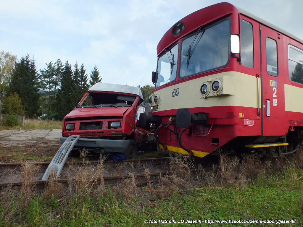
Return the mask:
[[167, 84], [176, 79], [177, 75], [177, 62], [178, 62], [178, 48], [179, 45], [176, 44], [171, 49], [165, 49], [165, 54], [163, 54], [158, 60], [158, 80], [156, 82], [156, 87], [163, 84]]

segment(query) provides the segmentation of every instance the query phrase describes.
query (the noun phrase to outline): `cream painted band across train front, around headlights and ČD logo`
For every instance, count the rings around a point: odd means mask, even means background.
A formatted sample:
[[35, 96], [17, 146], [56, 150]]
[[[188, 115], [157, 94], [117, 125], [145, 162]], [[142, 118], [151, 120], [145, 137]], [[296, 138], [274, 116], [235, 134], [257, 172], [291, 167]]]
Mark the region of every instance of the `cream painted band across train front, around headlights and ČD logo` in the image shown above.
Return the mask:
[[[223, 90], [217, 97], [210, 96], [202, 98], [200, 87], [204, 81], [216, 78], [224, 78]], [[211, 84], [211, 82], [210, 82]], [[259, 85], [261, 91], [261, 85]], [[174, 89], [179, 89], [177, 96], [172, 96]], [[174, 86], [165, 87], [157, 90], [160, 104], [155, 107], [155, 112], [162, 110], [172, 110], [192, 107], [213, 107], [213, 106], [243, 106], [258, 107], [257, 79], [254, 76], [239, 72], [223, 72], [218, 74], [200, 77]], [[210, 91], [210, 94], [212, 92]], [[259, 95], [261, 103], [261, 95]]]

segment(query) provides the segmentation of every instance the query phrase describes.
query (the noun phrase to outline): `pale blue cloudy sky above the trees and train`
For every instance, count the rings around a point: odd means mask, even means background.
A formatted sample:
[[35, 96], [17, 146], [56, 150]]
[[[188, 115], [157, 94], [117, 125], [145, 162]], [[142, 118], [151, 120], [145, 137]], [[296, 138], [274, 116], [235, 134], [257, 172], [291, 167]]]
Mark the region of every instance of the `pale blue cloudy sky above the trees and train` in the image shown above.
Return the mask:
[[[0, 51], [17, 58], [27, 53], [38, 68], [61, 59], [96, 65], [102, 82], [152, 85], [157, 45], [165, 32], [186, 15], [215, 0], [39, 1], [0, 0]], [[302, 0], [230, 0], [292, 35], [303, 39]]]

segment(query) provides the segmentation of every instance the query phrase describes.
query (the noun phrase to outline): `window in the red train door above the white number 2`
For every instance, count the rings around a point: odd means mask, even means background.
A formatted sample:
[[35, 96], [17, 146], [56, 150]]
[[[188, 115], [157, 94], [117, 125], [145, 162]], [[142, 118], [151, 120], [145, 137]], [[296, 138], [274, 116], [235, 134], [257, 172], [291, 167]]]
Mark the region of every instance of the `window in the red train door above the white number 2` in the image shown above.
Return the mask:
[[266, 69], [271, 76], [278, 76], [278, 54], [277, 42], [271, 38], [266, 38]]

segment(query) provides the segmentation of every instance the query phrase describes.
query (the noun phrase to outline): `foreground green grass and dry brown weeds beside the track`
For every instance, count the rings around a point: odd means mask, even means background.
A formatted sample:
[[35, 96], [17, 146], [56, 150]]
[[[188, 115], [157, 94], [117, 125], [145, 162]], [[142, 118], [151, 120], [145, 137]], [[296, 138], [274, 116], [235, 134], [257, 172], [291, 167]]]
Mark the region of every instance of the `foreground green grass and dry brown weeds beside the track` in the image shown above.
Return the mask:
[[[115, 186], [104, 184], [102, 164], [85, 163], [63, 187], [55, 180], [32, 194], [29, 181], [21, 191], [7, 187], [1, 194], [0, 226], [276, 226], [275, 224], [145, 224], [145, 220], [291, 220], [303, 221], [303, 151], [288, 158], [261, 161], [221, 154], [212, 171], [201, 167], [188, 174], [191, 159], [173, 159], [170, 176], [139, 187], [131, 176]], [[23, 170], [24, 179], [35, 171]], [[133, 169], [133, 171], [135, 171]], [[144, 166], [148, 178], [150, 169]], [[28, 174], [29, 176], [26, 176]], [[23, 190], [23, 191], [22, 191]]]

